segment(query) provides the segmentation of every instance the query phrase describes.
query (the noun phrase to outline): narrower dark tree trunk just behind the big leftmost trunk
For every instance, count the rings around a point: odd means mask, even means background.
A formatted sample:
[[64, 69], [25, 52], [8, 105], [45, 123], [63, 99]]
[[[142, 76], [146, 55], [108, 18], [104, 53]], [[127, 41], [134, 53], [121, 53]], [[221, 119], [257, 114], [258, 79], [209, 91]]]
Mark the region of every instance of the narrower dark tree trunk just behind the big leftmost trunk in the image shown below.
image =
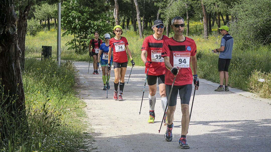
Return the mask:
[[25, 6], [25, 8], [20, 11], [19, 19], [17, 21], [18, 45], [22, 53], [20, 57], [21, 69], [24, 69], [25, 62], [25, 35], [27, 30], [27, 16], [29, 10], [30, 6]]

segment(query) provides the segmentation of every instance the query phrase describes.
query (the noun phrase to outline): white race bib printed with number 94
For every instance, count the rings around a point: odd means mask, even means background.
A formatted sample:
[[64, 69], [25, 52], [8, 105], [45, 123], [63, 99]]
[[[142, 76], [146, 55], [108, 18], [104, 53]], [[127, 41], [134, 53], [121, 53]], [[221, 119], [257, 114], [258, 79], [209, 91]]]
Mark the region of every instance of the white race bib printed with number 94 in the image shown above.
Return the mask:
[[173, 53], [173, 67], [190, 67], [190, 53]]

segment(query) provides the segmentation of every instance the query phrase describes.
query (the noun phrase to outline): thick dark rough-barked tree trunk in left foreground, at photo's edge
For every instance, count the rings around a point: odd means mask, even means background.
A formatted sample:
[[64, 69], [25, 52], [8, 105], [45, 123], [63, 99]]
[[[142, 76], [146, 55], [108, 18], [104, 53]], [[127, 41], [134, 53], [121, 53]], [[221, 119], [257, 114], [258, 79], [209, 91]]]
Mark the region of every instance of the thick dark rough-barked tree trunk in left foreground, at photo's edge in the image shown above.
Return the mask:
[[14, 137], [16, 131], [22, 134], [21, 126], [27, 125], [25, 97], [20, 68], [20, 48], [16, 13], [12, 0], [4, 0], [0, 9], [0, 138], [3, 141]]

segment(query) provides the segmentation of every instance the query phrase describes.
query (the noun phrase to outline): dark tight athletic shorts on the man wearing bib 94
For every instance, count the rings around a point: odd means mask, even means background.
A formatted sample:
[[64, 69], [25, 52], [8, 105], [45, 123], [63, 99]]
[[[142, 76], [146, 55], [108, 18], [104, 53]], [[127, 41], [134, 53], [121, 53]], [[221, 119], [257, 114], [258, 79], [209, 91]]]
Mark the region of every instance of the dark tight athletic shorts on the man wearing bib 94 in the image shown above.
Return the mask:
[[[169, 97], [171, 85], [166, 85], [166, 96]], [[181, 99], [181, 104], [189, 104], [191, 93], [192, 93], [192, 84], [183, 85], [183, 86], [173, 86], [172, 93], [169, 99], [169, 106], [176, 106], [178, 92]]]

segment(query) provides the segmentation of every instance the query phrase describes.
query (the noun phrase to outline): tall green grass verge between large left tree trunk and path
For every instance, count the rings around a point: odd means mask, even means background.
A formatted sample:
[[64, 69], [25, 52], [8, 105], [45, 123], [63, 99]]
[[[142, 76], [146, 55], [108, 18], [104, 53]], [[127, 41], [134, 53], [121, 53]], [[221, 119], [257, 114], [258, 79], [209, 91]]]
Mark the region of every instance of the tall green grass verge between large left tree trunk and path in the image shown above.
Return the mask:
[[18, 128], [26, 130], [23, 135], [9, 135], [8, 141], [2, 141], [0, 151], [60, 152], [84, 147], [84, 132], [89, 130], [82, 109], [86, 104], [74, 90], [76, 73], [70, 61], [59, 67], [53, 60], [25, 60], [22, 78], [28, 126]]

